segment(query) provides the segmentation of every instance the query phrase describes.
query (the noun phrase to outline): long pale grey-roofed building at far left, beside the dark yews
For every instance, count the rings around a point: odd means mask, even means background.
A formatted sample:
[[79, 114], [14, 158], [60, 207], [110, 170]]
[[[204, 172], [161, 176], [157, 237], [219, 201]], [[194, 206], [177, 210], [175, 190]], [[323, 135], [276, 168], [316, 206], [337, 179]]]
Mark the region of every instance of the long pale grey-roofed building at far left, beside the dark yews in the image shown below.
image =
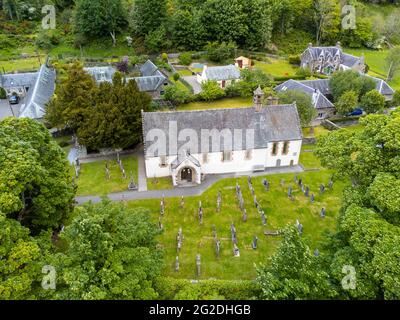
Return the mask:
[[47, 64], [41, 66], [36, 82], [29, 90], [21, 106], [19, 118], [42, 119], [45, 106], [53, 96], [56, 84], [56, 71]]

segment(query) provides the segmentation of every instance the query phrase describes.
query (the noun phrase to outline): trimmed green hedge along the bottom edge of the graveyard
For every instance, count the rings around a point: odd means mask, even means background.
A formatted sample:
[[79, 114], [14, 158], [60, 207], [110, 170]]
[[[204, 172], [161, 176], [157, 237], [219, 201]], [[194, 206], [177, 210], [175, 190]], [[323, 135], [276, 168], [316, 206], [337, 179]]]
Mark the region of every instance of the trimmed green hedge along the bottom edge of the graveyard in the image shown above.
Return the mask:
[[182, 292], [190, 292], [198, 300], [218, 295], [227, 300], [254, 300], [261, 294], [255, 281], [201, 280], [193, 283], [185, 279], [160, 278], [155, 289], [161, 300], [176, 300]]

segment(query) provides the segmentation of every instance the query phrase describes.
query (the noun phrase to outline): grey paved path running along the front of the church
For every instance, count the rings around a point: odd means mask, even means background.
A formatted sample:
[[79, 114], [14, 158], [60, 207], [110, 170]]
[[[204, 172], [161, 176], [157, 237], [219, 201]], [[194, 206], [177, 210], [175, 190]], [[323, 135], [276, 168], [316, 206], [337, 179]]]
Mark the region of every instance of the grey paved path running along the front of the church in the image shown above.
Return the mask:
[[[108, 198], [112, 201], [125, 201], [125, 200], [142, 200], [142, 199], [160, 199], [163, 196], [166, 198], [177, 198], [177, 197], [191, 197], [191, 196], [200, 196], [206, 190], [208, 190], [214, 183], [221, 179], [227, 178], [237, 178], [243, 176], [265, 176], [272, 174], [280, 174], [280, 173], [300, 173], [304, 172], [304, 168], [301, 166], [295, 167], [284, 167], [284, 168], [270, 168], [263, 172], [253, 173], [253, 172], [242, 172], [242, 173], [233, 173], [233, 174], [222, 174], [222, 175], [208, 175], [206, 180], [198, 186], [195, 187], [187, 187], [187, 188], [174, 188], [170, 190], [153, 190], [153, 191], [125, 191], [119, 193], [109, 194]], [[92, 202], [100, 202], [100, 196], [85, 196], [85, 197], [77, 197], [76, 201], [78, 204], [82, 204], [88, 201]]]

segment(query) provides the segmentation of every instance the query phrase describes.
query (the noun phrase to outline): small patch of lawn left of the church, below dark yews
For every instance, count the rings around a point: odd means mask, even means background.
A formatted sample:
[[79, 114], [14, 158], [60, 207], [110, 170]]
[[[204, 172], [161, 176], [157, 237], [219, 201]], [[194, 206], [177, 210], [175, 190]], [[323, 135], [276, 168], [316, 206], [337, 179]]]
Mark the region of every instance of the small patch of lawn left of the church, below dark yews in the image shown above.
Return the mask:
[[135, 183], [138, 181], [138, 159], [133, 156], [121, 156], [127, 179], [122, 177], [116, 160], [109, 160], [110, 180], [106, 178], [105, 165], [107, 161], [97, 161], [81, 164], [81, 172], [77, 179], [77, 195], [106, 195], [109, 193], [128, 190], [130, 175], [133, 174]]

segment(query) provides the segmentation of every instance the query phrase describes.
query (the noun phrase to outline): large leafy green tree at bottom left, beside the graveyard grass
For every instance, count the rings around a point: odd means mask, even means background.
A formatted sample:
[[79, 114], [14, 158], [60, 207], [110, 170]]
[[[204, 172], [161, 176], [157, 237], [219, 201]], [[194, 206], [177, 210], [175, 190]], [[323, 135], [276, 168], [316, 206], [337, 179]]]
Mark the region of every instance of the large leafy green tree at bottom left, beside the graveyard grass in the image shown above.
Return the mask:
[[154, 281], [163, 266], [162, 251], [149, 212], [109, 200], [76, 210], [76, 218], [61, 233], [66, 250], [48, 261], [57, 270], [54, 298], [157, 298]]

